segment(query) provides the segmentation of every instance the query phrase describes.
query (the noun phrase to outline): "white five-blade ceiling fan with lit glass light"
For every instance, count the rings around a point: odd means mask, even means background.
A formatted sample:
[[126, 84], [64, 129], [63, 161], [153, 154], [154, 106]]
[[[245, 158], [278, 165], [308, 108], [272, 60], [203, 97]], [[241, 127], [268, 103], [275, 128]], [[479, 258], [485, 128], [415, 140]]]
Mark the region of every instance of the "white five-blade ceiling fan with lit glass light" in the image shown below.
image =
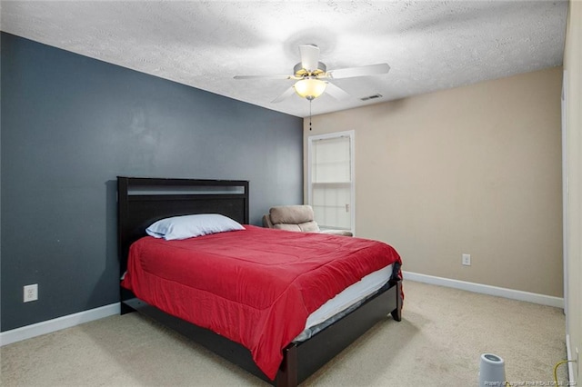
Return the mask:
[[343, 100], [349, 98], [349, 94], [328, 80], [386, 74], [390, 70], [389, 65], [378, 64], [327, 71], [326, 65], [319, 62], [319, 47], [317, 45], [299, 45], [299, 53], [301, 62], [295, 65], [292, 75], [236, 75], [235, 79], [293, 79], [297, 81], [283, 94], [271, 101], [272, 103], [281, 102], [294, 93], [308, 101], [314, 100], [324, 92], [337, 100]]

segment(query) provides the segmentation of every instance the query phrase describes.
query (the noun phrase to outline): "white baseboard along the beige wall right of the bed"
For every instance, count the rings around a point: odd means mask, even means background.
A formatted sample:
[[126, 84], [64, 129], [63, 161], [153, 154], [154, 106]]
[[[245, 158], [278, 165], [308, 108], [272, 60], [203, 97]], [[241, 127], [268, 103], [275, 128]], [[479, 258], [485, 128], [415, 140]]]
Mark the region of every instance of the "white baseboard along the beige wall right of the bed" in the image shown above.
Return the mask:
[[512, 300], [526, 301], [527, 303], [539, 303], [541, 305], [554, 306], [564, 309], [564, 299], [551, 295], [529, 293], [514, 289], [499, 288], [497, 286], [484, 285], [481, 283], [467, 283], [465, 281], [451, 280], [449, 278], [435, 277], [433, 275], [402, 272], [405, 280], [416, 281], [418, 283], [430, 283], [433, 285], [447, 286], [449, 288], [466, 290], [468, 292], [496, 295], [498, 297], [510, 298]]

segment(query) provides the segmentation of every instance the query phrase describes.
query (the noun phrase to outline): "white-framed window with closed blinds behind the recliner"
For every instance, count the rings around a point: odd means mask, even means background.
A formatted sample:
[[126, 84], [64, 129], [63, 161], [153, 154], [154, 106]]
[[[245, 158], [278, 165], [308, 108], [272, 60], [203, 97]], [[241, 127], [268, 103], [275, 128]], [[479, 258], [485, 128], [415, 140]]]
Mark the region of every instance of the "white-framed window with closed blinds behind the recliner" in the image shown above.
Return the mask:
[[354, 233], [354, 131], [307, 139], [307, 202], [321, 229]]

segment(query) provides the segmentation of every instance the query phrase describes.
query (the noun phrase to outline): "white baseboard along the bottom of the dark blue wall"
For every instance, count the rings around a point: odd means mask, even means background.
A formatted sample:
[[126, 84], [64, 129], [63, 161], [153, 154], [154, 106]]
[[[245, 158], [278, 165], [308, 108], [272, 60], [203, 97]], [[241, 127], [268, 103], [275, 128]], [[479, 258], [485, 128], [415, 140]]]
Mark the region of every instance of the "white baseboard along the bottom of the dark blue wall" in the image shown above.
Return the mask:
[[120, 308], [120, 303], [111, 303], [88, 311], [68, 314], [53, 320], [26, 325], [22, 328], [16, 328], [6, 332], [0, 332], [0, 346], [11, 344], [13, 342], [20, 342], [35, 336], [40, 336], [41, 334], [60, 331], [81, 323], [89, 323], [94, 320], [119, 314]]

